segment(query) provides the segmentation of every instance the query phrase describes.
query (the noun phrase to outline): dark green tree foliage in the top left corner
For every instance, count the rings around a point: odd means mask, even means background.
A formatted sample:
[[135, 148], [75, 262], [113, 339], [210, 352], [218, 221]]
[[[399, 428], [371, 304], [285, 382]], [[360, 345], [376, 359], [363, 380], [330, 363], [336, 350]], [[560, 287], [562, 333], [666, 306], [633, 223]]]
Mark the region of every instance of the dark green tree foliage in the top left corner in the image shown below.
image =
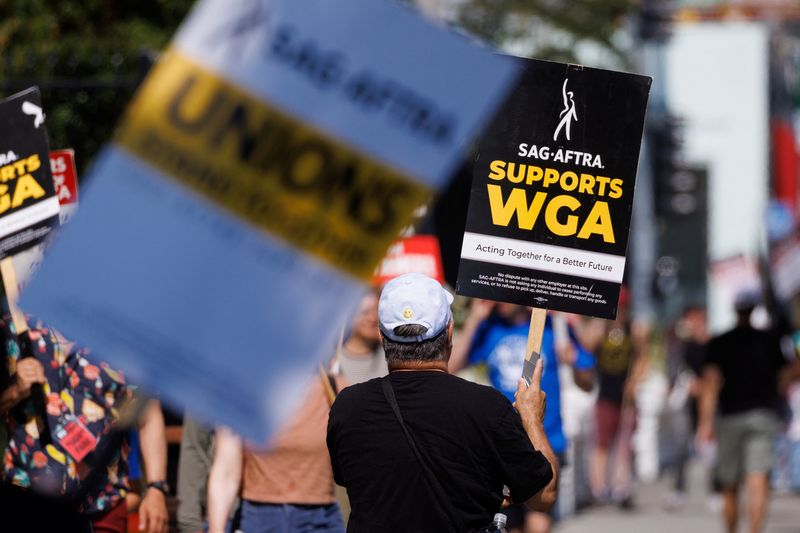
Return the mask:
[[42, 90], [52, 148], [80, 168], [194, 0], [0, 0], [0, 96]]

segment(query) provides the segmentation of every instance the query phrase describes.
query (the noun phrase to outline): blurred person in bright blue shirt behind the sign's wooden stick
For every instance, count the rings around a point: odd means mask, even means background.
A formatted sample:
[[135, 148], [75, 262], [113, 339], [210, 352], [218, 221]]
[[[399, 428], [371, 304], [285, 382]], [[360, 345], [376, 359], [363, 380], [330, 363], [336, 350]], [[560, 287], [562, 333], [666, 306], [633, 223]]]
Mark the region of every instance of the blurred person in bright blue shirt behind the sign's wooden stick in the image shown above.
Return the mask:
[[[450, 372], [457, 372], [468, 365], [484, 363], [492, 386], [513, 402], [517, 381], [522, 376], [530, 317], [530, 309], [525, 306], [473, 300], [461, 333], [453, 343]], [[570, 328], [567, 328], [566, 335], [563, 335], [566, 338], [563, 339], [555, 330], [553, 319], [548, 316], [541, 350], [544, 363], [542, 391], [547, 395], [544, 429], [553, 451], [563, 462], [567, 439], [561, 422], [559, 362], [571, 364], [575, 384], [589, 391], [594, 386], [595, 358], [580, 345]], [[523, 506], [519, 506], [509, 513], [509, 532], [522, 530], [523, 524], [525, 533], [550, 531], [552, 517], [526, 511]]]

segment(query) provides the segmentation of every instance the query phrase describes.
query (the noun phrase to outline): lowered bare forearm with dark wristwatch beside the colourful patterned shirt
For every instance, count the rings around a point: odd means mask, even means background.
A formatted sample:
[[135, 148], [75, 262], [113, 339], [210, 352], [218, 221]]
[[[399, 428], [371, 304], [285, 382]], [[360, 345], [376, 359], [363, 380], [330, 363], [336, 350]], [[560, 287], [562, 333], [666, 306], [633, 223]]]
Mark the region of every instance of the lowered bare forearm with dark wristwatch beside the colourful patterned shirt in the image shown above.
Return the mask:
[[[139, 439], [148, 483], [164, 482], [167, 478], [167, 439], [164, 415], [155, 400], [146, 407], [139, 425]], [[166, 494], [159, 488], [148, 486], [139, 507], [139, 529], [147, 533], [167, 533], [168, 523]]]

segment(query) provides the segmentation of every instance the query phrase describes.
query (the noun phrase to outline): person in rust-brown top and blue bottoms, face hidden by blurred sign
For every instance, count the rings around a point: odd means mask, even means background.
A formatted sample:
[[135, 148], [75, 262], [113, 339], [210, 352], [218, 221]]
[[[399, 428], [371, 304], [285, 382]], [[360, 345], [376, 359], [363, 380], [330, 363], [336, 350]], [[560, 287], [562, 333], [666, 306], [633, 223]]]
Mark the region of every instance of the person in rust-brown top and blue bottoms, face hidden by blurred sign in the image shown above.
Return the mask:
[[246, 533], [344, 533], [325, 448], [330, 400], [313, 379], [295, 416], [266, 449], [243, 446], [231, 431], [216, 432], [208, 481], [209, 533], [226, 531], [240, 493], [239, 520]]

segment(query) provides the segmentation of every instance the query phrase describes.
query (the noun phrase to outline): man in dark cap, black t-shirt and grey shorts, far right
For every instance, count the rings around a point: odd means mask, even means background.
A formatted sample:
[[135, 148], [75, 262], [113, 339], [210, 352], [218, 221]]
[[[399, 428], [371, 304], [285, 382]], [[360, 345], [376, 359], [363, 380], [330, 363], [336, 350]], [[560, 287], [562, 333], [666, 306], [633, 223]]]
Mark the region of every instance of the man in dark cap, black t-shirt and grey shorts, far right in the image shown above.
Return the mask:
[[723, 518], [735, 532], [738, 492], [747, 484], [750, 531], [762, 531], [769, 503], [772, 444], [778, 429], [779, 383], [787, 368], [779, 339], [750, 325], [758, 295], [736, 297], [737, 324], [711, 339], [706, 349], [697, 441], [718, 446], [717, 481], [722, 486]]

